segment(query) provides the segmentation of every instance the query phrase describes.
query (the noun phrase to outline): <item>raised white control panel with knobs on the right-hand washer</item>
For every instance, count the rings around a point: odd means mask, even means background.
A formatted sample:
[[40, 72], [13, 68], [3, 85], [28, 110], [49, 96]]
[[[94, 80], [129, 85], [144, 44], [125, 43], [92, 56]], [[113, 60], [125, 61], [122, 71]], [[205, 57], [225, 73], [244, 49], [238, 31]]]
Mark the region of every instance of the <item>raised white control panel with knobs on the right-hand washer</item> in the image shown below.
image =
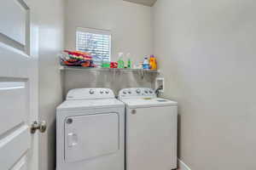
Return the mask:
[[124, 88], [119, 91], [119, 99], [156, 98], [152, 88]]

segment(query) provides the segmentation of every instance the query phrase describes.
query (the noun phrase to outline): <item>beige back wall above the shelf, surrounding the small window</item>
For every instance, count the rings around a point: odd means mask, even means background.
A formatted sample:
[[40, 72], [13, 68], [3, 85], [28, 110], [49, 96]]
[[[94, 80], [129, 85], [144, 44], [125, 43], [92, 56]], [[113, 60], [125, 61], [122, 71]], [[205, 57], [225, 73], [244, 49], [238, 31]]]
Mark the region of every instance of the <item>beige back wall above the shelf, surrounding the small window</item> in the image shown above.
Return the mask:
[[152, 54], [151, 8], [122, 0], [66, 0], [66, 48], [75, 49], [77, 27], [111, 30], [112, 60], [119, 52], [133, 61]]

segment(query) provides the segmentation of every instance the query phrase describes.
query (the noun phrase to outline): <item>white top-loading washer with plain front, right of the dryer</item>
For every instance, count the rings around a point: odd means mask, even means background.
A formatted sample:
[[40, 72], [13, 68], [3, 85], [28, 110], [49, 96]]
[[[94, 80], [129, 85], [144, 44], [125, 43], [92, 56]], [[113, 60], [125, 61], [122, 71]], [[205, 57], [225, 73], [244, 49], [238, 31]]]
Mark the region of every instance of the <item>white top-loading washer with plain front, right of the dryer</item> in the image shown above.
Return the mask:
[[151, 88], [119, 91], [125, 109], [126, 170], [177, 168], [177, 102], [157, 98]]

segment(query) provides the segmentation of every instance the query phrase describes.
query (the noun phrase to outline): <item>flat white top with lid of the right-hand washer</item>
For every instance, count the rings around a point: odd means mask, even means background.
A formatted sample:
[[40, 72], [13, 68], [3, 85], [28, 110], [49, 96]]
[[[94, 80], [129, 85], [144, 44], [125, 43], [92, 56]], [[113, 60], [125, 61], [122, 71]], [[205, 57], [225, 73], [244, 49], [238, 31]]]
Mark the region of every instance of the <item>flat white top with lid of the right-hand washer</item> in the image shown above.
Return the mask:
[[122, 99], [129, 108], [162, 107], [177, 105], [177, 102], [162, 98]]

